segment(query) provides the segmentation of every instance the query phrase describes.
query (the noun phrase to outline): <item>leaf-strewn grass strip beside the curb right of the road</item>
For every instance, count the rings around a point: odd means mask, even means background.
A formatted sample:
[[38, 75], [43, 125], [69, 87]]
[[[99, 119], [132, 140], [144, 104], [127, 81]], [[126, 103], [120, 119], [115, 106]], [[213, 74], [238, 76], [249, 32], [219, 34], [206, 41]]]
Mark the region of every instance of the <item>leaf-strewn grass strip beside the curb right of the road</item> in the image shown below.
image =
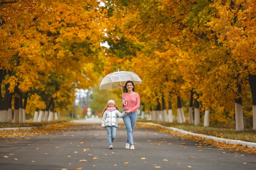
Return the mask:
[[140, 122], [150, 122], [154, 124], [160, 124], [162, 126], [178, 128], [186, 130], [188, 132], [194, 132], [203, 135], [209, 135], [214, 137], [221, 137], [225, 139], [236, 139], [241, 141], [249, 141], [256, 143], [256, 130], [245, 129], [243, 131], [236, 131], [233, 128], [217, 128], [217, 127], [204, 127], [194, 126], [193, 124], [178, 124], [169, 122], [154, 122], [146, 120], [138, 120]]

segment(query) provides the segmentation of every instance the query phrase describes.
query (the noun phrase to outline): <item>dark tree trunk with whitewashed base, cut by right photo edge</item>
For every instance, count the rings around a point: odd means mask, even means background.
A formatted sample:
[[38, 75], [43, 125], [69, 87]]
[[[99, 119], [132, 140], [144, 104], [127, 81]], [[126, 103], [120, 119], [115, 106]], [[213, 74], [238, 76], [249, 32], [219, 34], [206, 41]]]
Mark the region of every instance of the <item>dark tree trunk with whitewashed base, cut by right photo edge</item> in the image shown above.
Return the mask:
[[249, 74], [249, 83], [252, 93], [252, 124], [253, 130], [256, 130], [256, 75]]

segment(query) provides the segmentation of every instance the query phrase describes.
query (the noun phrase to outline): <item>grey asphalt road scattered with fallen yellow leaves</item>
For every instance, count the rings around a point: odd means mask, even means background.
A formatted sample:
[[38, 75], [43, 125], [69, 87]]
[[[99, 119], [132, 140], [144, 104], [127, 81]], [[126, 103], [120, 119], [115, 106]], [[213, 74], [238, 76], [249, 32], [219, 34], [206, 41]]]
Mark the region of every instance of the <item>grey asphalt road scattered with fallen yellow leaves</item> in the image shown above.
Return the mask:
[[[86, 121], [83, 121], [86, 123]], [[82, 122], [79, 122], [82, 123]], [[182, 140], [135, 126], [135, 150], [125, 149], [119, 124], [114, 149], [99, 121], [48, 136], [0, 140], [0, 170], [255, 170], [256, 155]], [[87, 152], [84, 152], [87, 151]]]

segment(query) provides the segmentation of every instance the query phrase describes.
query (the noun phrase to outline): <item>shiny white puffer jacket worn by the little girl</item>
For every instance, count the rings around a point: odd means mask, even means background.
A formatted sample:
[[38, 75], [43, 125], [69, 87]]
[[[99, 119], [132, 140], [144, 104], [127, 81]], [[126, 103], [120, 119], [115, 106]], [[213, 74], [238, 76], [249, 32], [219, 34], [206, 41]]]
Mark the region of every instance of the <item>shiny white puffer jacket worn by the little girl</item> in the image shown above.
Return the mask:
[[102, 120], [101, 120], [101, 127], [106, 127], [106, 126], [115, 126], [115, 127], [117, 127], [118, 126], [117, 116], [118, 117], [125, 117], [126, 114], [119, 112], [119, 110], [117, 110], [117, 109], [115, 109], [113, 111], [106, 110], [103, 113], [103, 117], [102, 117]]

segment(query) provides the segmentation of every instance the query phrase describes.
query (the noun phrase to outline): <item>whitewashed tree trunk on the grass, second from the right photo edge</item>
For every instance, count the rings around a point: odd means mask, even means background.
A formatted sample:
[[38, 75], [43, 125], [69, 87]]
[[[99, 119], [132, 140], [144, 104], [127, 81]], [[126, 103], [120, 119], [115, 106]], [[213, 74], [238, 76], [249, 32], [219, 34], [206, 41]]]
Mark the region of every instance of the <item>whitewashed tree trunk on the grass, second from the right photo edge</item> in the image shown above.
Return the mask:
[[[238, 94], [242, 92], [240, 84], [237, 84]], [[236, 131], [244, 130], [244, 121], [243, 121], [243, 105], [242, 98], [238, 97], [235, 99], [235, 114], [236, 114]]]

